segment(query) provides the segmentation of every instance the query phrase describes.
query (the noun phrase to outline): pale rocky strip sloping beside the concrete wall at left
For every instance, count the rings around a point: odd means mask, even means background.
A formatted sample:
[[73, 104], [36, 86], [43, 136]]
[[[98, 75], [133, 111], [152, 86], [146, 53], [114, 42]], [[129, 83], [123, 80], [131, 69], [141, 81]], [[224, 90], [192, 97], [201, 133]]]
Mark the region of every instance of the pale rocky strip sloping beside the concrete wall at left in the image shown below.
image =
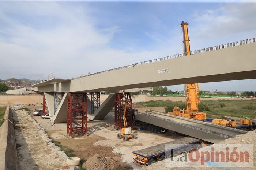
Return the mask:
[[12, 111], [21, 170], [60, 169], [67, 155], [54, 145], [41, 126], [25, 110]]

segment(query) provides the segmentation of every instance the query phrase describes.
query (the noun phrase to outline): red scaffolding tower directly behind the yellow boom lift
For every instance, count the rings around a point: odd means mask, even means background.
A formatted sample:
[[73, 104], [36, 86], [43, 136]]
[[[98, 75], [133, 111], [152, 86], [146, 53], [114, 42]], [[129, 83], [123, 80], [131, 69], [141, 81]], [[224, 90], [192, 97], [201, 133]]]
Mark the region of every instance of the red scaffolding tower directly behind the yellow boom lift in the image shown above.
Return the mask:
[[[130, 93], [125, 93], [125, 97], [129, 104], [129, 108], [126, 111], [127, 127], [132, 127], [132, 98]], [[115, 128], [121, 129], [124, 127], [123, 115], [124, 115], [125, 98], [122, 93], [117, 93], [115, 99]]]

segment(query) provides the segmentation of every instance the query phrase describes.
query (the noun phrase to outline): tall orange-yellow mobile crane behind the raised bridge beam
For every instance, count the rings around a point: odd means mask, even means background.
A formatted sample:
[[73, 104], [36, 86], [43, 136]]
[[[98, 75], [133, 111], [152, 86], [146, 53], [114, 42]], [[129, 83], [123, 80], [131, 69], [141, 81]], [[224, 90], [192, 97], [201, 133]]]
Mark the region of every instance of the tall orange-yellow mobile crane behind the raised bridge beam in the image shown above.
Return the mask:
[[[182, 22], [183, 30], [183, 43], [184, 43], [184, 54], [190, 55], [190, 45], [188, 38], [188, 23]], [[172, 114], [186, 118], [205, 120], [206, 114], [198, 111], [198, 104], [200, 103], [199, 87], [198, 83], [185, 84], [186, 89], [186, 110], [181, 110], [178, 107], [174, 107]]]

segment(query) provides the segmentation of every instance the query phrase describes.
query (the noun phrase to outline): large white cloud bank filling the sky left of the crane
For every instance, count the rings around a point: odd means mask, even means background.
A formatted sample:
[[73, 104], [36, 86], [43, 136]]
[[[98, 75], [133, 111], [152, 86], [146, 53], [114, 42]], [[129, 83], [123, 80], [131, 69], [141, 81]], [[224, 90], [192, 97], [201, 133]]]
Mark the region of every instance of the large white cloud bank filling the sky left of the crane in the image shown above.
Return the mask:
[[113, 49], [109, 43], [121, 28], [96, 29], [87, 9], [77, 5], [12, 2], [3, 3], [0, 11], [0, 66], [1, 70], [11, 66], [11, 71], [0, 72], [2, 79], [46, 78], [50, 72], [70, 78], [162, 57], [170, 50], [161, 46], [158, 51]]

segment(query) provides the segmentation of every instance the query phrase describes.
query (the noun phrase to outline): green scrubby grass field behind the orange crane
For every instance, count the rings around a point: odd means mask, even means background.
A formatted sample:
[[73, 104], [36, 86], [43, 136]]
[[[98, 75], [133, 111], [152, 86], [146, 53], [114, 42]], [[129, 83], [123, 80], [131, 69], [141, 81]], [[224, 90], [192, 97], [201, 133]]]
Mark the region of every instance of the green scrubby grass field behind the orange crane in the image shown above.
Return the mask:
[[[142, 107], [165, 107], [172, 111], [174, 106], [184, 108], [185, 102], [172, 102], [170, 100], [148, 101], [134, 103]], [[136, 106], [135, 106], [136, 107]], [[199, 111], [205, 112], [207, 118], [223, 118], [223, 116], [256, 118], [256, 100], [201, 100]]]

